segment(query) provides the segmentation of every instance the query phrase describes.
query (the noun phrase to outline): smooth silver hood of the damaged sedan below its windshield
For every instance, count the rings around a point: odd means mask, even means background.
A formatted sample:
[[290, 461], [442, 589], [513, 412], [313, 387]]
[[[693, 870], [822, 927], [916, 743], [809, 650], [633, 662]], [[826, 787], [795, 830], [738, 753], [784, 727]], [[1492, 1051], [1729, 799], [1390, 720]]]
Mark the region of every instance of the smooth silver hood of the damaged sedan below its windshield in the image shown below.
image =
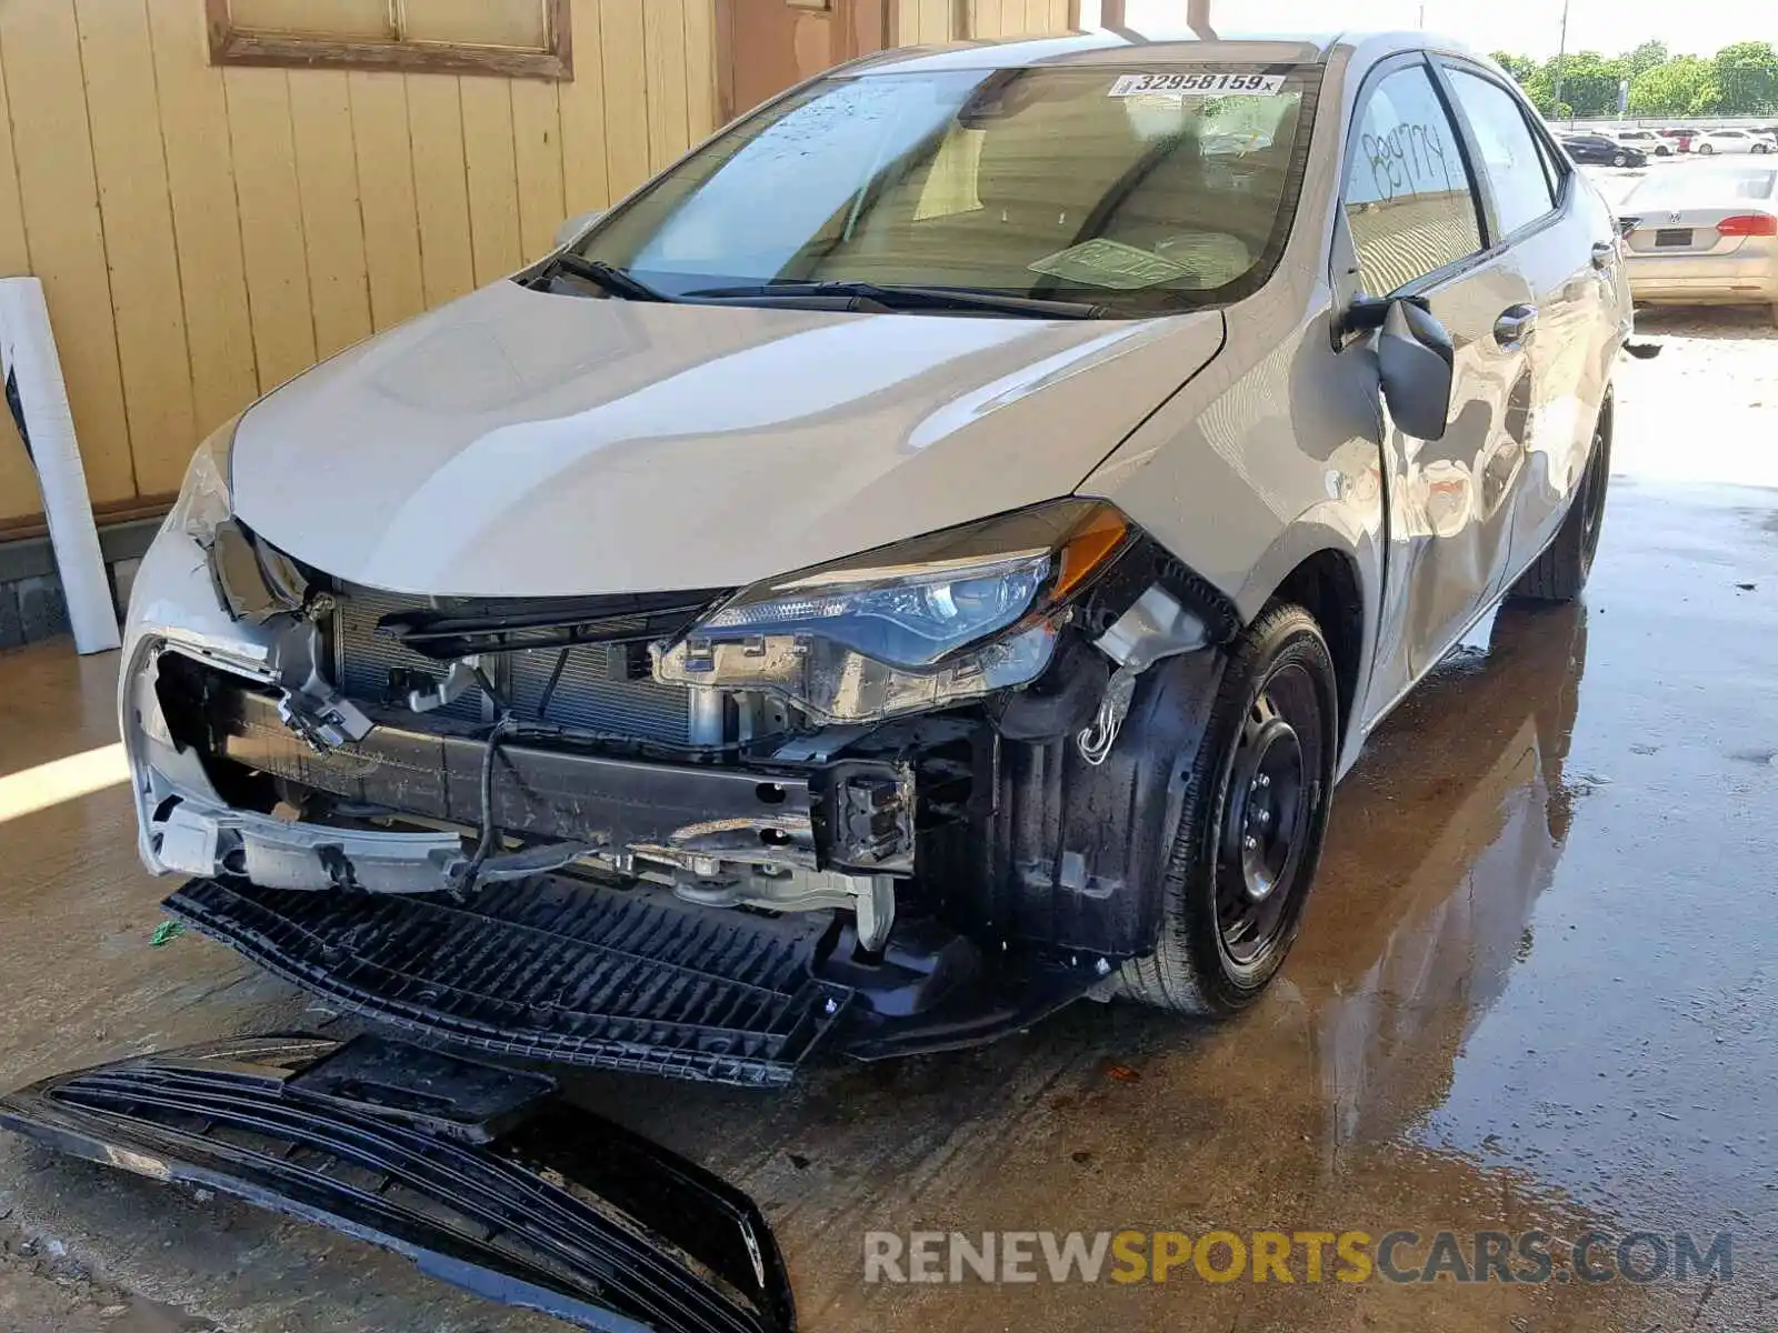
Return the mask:
[[1069, 494], [1221, 341], [498, 283], [254, 405], [235, 508], [395, 592], [736, 587]]

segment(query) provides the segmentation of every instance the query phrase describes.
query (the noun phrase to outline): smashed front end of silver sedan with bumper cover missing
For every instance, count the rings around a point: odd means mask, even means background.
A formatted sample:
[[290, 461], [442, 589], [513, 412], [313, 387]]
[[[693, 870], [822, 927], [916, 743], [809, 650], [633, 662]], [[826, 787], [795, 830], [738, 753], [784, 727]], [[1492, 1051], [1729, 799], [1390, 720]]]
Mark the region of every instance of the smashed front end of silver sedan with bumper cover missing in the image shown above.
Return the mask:
[[770, 1086], [1152, 949], [1236, 619], [1104, 503], [740, 590], [446, 599], [302, 565], [204, 478], [130, 617], [142, 855], [338, 1006]]

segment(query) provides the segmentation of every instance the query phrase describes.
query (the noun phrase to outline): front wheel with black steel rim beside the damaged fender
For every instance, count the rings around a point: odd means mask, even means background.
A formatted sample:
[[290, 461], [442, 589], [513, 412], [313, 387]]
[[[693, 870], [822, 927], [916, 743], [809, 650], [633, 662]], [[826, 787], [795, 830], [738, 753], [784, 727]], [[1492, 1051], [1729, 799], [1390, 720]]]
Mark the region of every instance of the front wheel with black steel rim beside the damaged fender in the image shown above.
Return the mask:
[[1268, 608], [1230, 652], [1186, 778], [1159, 944], [1124, 963], [1122, 995], [1229, 1017], [1266, 990], [1321, 864], [1337, 718], [1321, 627], [1301, 606]]

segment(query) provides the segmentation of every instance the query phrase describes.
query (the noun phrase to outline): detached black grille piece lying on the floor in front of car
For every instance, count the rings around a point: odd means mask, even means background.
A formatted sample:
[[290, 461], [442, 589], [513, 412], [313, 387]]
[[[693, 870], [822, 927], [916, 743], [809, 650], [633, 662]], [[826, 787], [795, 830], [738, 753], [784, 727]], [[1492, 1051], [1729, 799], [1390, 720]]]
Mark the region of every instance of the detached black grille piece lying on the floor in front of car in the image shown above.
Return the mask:
[[752, 1200], [542, 1075], [373, 1036], [240, 1038], [46, 1079], [0, 1097], [0, 1127], [338, 1228], [581, 1328], [795, 1328]]

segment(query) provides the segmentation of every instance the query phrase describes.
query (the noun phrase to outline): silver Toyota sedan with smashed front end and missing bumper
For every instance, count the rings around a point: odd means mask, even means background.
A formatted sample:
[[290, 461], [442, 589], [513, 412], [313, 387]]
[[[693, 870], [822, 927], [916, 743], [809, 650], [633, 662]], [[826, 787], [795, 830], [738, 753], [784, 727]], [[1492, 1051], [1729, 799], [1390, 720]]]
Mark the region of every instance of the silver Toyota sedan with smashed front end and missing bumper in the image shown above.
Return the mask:
[[128, 617], [142, 858], [558, 1063], [1230, 1015], [1366, 736], [1579, 595], [1629, 320], [1454, 43], [846, 66], [203, 443]]

